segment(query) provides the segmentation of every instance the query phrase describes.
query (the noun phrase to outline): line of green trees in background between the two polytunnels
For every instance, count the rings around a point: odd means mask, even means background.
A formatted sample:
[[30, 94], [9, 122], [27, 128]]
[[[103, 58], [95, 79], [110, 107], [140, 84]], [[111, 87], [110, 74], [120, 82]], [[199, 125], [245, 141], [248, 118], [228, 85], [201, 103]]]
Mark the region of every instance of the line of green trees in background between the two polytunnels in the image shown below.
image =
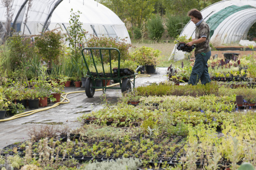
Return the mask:
[[[151, 39], [159, 40], [161, 37], [151, 35], [152, 26], [149, 25], [158, 27], [157, 31], [153, 32], [160, 33], [161, 27], [164, 27], [161, 25], [166, 25], [169, 36], [176, 37], [190, 20], [187, 17], [189, 10], [197, 8], [201, 11], [219, 1], [221, 0], [99, 0], [98, 2], [116, 13], [135, 39], [143, 37], [143, 32], [146, 30], [146, 34]], [[157, 20], [161, 21], [157, 22]]]

